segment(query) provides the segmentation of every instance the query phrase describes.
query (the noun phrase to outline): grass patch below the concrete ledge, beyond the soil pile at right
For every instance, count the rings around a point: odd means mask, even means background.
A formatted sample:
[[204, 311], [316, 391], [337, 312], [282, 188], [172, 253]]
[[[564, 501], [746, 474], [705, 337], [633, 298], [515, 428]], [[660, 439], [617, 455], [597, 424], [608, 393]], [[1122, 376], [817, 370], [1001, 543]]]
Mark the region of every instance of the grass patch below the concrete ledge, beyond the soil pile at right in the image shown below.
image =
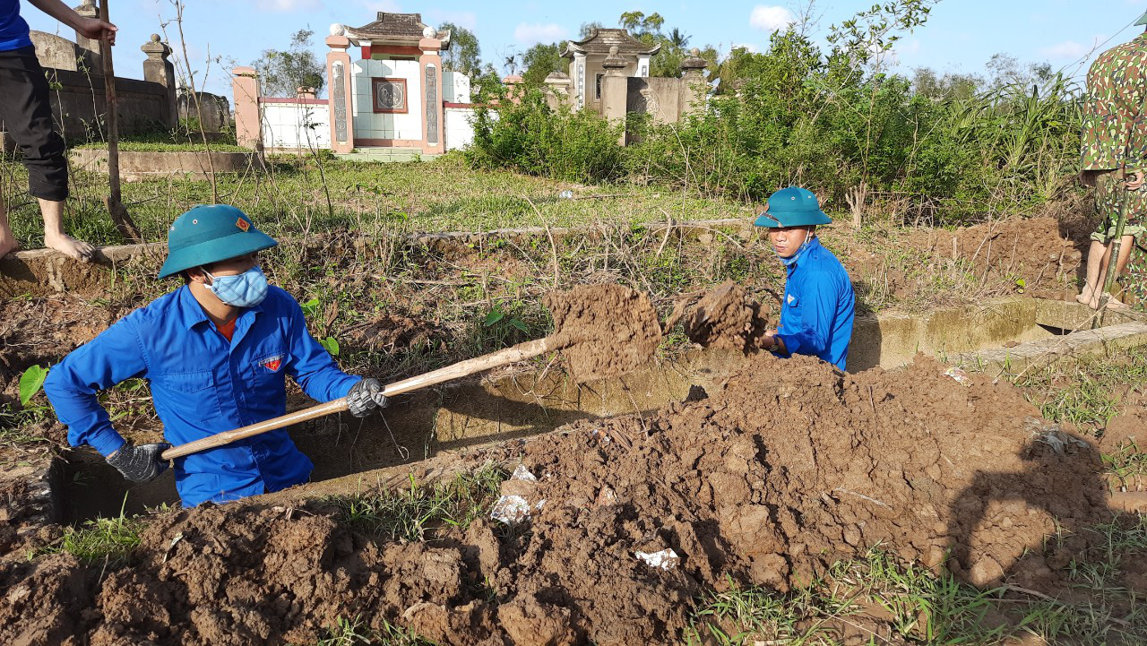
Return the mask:
[[1123, 411], [1123, 399], [1147, 392], [1147, 347], [1056, 361], [1013, 376], [1012, 382], [1027, 391], [1045, 418], [1101, 433]]

